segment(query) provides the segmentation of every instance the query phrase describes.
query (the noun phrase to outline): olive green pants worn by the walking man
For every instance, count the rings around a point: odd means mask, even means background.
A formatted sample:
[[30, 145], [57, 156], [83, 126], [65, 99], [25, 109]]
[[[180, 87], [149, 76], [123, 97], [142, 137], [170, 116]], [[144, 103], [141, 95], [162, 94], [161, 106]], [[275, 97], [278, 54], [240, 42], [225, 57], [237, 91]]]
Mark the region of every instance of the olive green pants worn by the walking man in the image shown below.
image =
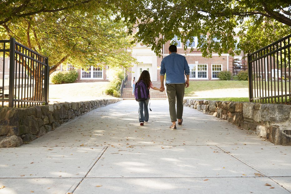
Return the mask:
[[[171, 122], [182, 119], [183, 116], [183, 98], [185, 92], [185, 83], [170, 83], [166, 84], [167, 95], [169, 100], [169, 111]], [[176, 112], [177, 99], [177, 112]]]

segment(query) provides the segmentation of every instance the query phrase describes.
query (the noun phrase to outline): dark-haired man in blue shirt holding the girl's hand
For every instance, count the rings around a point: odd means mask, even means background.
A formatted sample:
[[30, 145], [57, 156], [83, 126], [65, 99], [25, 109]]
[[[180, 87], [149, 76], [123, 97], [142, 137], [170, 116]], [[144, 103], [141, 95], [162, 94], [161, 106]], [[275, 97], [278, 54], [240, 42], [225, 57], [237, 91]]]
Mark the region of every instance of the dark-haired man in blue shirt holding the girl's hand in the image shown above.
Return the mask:
[[[177, 47], [171, 45], [169, 47], [170, 55], [166, 56], [161, 62], [160, 80], [161, 87], [164, 87], [165, 73], [166, 87], [169, 100], [169, 111], [172, 121], [171, 129], [176, 130], [176, 121], [178, 119], [178, 125], [182, 125], [183, 122], [183, 98], [185, 87], [189, 87], [189, 74], [190, 69], [186, 58], [177, 54]], [[185, 75], [187, 81], [185, 82]], [[177, 100], [177, 112], [176, 112], [176, 100]]]

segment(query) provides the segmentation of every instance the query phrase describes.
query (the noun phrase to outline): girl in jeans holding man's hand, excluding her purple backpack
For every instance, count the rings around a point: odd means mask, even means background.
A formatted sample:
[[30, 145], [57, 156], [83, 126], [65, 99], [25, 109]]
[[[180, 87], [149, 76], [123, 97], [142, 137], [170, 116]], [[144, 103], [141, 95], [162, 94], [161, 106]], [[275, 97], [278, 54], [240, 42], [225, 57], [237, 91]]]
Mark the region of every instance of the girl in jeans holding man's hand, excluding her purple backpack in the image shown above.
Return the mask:
[[[153, 84], [150, 81], [150, 73], [147, 70], [144, 70], [141, 72], [141, 76], [137, 82], [141, 80], [146, 84], [146, 87], [148, 90], [152, 88], [154, 90], [159, 90], [160, 92], [163, 92], [163, 89], [153, 86]], [[150, 94], [149, 94], [148, 99], [146, 99], [145, 101], [138, 102], [140, 106], [138, 109], [139, 110], [138, 118], [139, 118], [139, 122], [141, 126], [144, 125], [144, 122], [147, 123], [149, 121], [149, 110], [148, 110], [149, 99], [150, 99]], [[144, 114], [144, 111], [145, 111], [145, 114]]]

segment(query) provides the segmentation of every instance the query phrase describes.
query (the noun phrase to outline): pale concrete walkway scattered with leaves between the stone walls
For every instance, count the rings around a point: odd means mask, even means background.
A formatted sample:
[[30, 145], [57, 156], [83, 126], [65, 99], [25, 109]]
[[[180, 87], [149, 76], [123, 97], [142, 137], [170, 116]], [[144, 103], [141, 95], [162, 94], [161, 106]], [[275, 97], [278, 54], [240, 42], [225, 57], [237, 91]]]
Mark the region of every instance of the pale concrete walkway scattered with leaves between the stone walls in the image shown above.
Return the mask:
[[0, 194], [290, 193], [291, 147], [184, 108], [170, 130], [166, 100], [96, 109], [18, 148], [0, 148]]

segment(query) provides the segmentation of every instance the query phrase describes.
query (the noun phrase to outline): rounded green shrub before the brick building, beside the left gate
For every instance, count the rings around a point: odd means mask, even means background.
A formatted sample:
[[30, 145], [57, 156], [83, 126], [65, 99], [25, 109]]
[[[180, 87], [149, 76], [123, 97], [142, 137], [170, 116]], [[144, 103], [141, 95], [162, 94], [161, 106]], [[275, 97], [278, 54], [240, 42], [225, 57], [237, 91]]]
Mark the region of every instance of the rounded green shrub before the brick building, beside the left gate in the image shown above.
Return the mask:
[[51, 74], [51, 81], [54, 84], [74, 83], [78, 78], [78, 72], [71, 71], [56, 71]]

